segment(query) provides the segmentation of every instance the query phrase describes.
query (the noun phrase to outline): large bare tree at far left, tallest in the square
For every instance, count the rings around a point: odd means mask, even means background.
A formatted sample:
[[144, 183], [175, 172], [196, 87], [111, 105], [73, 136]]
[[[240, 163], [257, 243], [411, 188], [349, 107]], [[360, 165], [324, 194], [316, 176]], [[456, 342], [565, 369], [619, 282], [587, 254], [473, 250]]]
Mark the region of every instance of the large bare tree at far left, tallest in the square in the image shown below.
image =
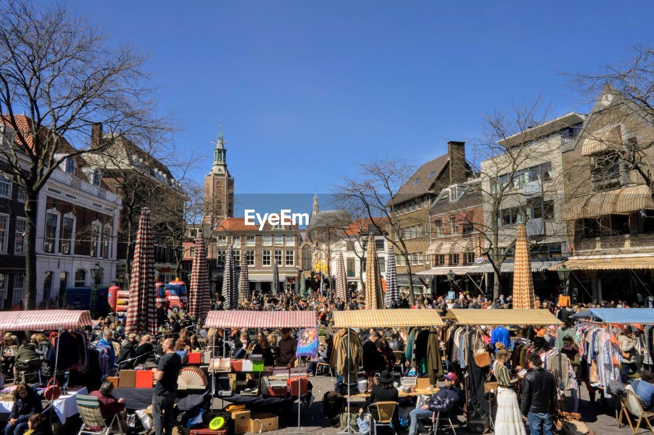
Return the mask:
[[[8, 0], [0, 12], [0, 110], [12, 146], [0, 150], [3, 172], [25, 190], [26, 309], [36, 300], [36, 217], [39, 191], [69, 157], [88, 149], [92, 123], [129, 135], [158, 126], [144, 57], [112, 48], [106, 35], [61, 5]], [[26, 116], [20, 115], [25, 113]], [[6, 133], [6, 131], [5, 131]]]

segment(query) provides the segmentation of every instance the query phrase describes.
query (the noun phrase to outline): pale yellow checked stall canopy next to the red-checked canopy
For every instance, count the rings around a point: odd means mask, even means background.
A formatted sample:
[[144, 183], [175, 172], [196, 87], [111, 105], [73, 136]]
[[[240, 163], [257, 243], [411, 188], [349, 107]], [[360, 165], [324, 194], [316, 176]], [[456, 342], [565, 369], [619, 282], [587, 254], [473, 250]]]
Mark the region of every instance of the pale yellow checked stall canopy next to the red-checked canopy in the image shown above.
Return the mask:
[[358, 310], [335, 311], [335, 328], [408, 328], [443, 326], [438, 310]]

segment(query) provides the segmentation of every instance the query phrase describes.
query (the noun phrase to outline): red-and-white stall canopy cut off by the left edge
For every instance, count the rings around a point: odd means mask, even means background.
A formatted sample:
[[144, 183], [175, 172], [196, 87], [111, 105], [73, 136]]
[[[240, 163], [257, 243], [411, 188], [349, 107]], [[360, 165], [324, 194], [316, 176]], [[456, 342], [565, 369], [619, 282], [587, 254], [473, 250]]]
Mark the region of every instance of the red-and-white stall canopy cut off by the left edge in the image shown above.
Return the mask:
[[0, 330], [72, 329], [91, 326], [88, 311], [33, 310], [0, 312]]

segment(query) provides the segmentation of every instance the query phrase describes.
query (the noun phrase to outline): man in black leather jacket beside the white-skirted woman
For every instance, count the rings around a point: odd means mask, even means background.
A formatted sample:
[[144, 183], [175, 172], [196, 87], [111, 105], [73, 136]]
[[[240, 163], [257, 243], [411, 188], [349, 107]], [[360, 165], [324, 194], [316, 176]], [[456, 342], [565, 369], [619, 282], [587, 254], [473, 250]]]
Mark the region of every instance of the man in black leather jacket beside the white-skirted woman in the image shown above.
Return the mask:
[[552, 435], [551, 414], [557, 405], [557, 386], [554, 376], [543, 369], [537, 353], [527, 357], [532, 366], [523, 379], [521, 411], [529, 421], [532, 435]]

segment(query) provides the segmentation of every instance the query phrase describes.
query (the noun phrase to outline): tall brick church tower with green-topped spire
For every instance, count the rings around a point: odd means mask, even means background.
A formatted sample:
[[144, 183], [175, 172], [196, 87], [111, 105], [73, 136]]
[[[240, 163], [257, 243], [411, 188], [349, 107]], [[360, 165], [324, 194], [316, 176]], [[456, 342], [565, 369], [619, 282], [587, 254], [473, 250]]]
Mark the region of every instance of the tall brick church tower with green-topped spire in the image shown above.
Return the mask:
[[222, 135], [222, 124], [218, 129], [216, 148], [213, 150], [213, 165], [205, 176], [205, 213], [203, 223], [217, 225], [234, 213], [234, 178], [227, 169], [227, 141]]

